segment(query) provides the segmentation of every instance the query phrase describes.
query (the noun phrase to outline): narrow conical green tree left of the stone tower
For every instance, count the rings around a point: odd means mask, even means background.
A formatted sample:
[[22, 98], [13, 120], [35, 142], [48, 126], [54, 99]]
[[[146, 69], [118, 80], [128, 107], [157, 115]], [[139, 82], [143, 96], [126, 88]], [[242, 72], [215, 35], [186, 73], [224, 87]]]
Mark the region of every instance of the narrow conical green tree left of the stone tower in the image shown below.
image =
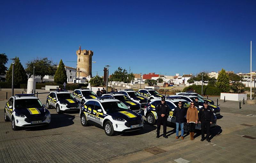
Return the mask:
[[63, 84], [64, 82], [67, 82], [67, 78], [68, 77], [65, 70], [65, 65], [63, 64], [62, 60], [60, 60], [59, 66], [54, 75], [54, 82]]

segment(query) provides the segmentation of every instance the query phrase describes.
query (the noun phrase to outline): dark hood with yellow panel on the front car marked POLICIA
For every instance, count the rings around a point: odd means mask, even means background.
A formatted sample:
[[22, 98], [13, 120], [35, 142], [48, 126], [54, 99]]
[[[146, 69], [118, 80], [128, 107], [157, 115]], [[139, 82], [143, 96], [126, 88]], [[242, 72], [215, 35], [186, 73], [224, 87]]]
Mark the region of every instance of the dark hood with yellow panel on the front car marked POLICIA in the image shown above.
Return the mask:
[[107, 112], [108, 115], [113, 117], [119, 117], [127, 122], [134, 121], [134, 120], [141, 120], [140, 115], [135, 113], [132, 110], [126, 110], [126, 111], [117, 111], [117, 112]]

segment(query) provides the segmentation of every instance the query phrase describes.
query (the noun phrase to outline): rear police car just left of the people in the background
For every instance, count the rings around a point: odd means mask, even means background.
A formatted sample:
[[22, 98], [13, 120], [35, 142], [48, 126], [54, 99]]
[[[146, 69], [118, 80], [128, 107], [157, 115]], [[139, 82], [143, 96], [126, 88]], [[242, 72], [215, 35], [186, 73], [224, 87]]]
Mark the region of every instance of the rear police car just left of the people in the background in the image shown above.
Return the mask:
[[89, 88], [75, 89], [72, 95], [81, 103], [85, 103], [88, 99], [95, 99], [95, 95]]

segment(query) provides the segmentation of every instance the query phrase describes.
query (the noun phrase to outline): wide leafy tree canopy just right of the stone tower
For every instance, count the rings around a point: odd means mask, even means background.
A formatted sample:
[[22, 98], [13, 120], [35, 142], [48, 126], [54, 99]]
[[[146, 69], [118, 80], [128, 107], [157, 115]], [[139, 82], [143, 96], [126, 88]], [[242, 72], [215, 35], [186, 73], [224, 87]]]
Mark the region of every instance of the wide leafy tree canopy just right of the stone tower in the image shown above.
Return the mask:
[[132, 80], [134, 80], [133, 73], [128, 74], [126, 69], [122, 69], [122, 67], [118, 67], [118, 69], [109, 77], [109, 81], [130, 82]]

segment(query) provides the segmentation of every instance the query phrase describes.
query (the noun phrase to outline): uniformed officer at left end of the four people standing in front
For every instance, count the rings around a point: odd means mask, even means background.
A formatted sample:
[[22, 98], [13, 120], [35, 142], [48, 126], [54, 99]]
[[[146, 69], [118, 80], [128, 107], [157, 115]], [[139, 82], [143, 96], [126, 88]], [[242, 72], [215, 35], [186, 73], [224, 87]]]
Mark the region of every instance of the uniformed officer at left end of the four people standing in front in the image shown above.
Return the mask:
[[161, 123], [163, 123], [163, 127], [164, 127], [164, 138], [168, 138], [166, 136], [166, 122], [169, 114], [169, 106], [165, 102], [165, 97], [162, 97], [161, 103], [156, 106], [156, 114], [157, 114], [156, 138], [159, 138]]

